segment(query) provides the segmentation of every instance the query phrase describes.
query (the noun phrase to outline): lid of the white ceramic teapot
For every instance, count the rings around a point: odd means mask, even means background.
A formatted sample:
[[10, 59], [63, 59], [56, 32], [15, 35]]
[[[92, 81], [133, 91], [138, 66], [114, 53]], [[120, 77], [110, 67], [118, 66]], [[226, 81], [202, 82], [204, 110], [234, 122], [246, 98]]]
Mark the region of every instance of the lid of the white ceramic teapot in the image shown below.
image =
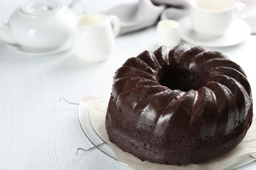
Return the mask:
[[32, 0], [21, 6], [21, 11], [30, 15], [40, 15], [58, 11], [62, 6], [61, 2], [54, 0]]

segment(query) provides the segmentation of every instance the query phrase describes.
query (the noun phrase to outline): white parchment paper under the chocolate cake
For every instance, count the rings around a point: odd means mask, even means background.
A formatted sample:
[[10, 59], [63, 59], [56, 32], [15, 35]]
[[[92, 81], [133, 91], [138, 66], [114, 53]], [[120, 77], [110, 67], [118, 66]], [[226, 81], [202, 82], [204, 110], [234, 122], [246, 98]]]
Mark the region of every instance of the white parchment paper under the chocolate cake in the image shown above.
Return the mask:
[[117, 158], [135, 170], [222, 170], [256, 152], [256, 118], [254, 116], [253, 123], [243, 141], [227, 154], [211, 161], [182, 166], [141, 161], [137, 157], [117, 148], [115, 144], [109, 141], [105, 128], [105, 117], [109, 98], [110, 95], [84, 96], [81, 98], [81, 108], [89, 111], [91, 120], [94, 121], [93, 123], [97, 126], [100, 135], [107, 141], [107, 144]]

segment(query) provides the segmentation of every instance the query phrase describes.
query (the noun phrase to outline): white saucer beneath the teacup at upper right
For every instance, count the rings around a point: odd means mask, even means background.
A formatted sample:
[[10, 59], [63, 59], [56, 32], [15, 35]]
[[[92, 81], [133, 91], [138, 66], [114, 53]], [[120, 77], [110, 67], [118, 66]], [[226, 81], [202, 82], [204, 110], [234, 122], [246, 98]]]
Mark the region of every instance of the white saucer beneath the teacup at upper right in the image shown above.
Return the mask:
[[232, 23], [225, 35], [215, 38], [203, 37], [193, 31], [190, 16], [178, 20], [180, 23], [181, 38], [191, 44], [208, 47], [224, 47], [239, 44], [251, 35], [250, 26], [237, 18]]

